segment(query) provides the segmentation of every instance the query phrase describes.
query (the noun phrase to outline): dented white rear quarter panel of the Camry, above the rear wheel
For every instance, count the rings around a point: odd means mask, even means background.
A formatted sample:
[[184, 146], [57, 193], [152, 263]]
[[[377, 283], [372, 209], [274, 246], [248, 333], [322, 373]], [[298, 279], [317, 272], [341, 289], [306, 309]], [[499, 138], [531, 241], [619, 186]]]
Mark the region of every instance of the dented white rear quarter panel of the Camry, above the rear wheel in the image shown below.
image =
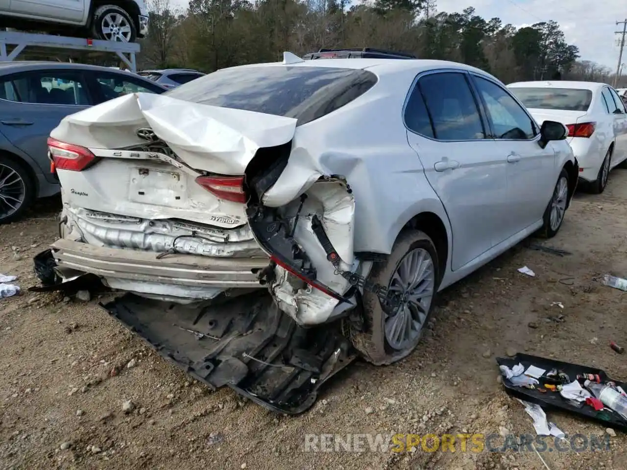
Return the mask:
[[[377, 73], [377, 66], [368, 70]], [[416, 73], [377, 75], [377, 84], [361, 97], [297, 127], [287, 167], [263, 204], [292, 201], [322, 174], [344, 175], [355, 199], [354, 251], [389, 254], [401, 229], [421, 212], [440, 217], [450, 245], [445, 209], [409, 147], [403, 123]]]

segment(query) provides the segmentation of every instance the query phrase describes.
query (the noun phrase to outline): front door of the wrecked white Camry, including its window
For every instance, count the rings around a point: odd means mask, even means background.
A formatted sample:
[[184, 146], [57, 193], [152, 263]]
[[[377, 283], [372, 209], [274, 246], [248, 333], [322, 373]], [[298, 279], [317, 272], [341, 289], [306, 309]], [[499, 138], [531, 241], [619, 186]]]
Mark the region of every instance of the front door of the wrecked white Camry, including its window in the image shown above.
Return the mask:
[[510, 210], [503, 224], [508, 235], [542, 218], [557, 182], [552, 145], [538, 144], [534, 118], [497, 82], [472, 75], [492, 127], [492, 137], [507, 159], [507, 199]]

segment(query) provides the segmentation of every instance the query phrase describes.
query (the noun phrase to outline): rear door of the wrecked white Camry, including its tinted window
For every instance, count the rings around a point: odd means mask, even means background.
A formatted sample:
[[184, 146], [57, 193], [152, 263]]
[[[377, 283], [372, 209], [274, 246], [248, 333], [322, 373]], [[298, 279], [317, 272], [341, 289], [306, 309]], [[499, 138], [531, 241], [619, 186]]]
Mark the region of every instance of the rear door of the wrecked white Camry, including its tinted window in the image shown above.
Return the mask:
[[453, 229], [451, 268], [505, 239], [507, 154], [488, 139], [485, 117], [460, 71], [420, 75], [405, 108], [409, 145]]

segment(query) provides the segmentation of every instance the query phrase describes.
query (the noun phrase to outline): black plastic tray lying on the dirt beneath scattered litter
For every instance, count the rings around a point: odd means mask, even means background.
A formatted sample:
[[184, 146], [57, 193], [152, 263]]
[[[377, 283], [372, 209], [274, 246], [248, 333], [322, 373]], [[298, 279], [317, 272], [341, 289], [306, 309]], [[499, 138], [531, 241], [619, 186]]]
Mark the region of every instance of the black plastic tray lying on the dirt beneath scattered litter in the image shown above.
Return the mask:
[[[498, 365], [507, 365], [509, 368], [521, 363], [525, 367], [525, 370], [527, 370], [527, 367], [530, 365], [535, 365], [535, 367], [545, 369], [547, 372], [556, 368], [566, 372], [571, 380], [575, 380], [575, 377], [582, 373], [596, 373], [599, 377], [601, 377], [603, 382], [611, 380], [615, 382], [616, 385], [620, 385], [623, 389], [625, 388], [624, 382], [609, 378], [608, 374], [604, 370], [588, 367], [586, 365], [561, 362], [523, 353], [518, 353], [512, 358], [497, 357], [497, 363]], [[627, 421], [622, 419], [616, 413], [595, 411], [594, 408], [589, 405], [583, 405], [581, 408], [577, 408], [576, 406], [569, 404], [566, 399], [562, 398], [562, 395], [559, 394], [559, 392], [551, 392], [549, 390], [545, 393], [541, 393], [538, 390], [526, 389], [525, 387], [515, 387], [510, 380], [505, 379], [505, 377], [502, 378], [505, 390], [509, 395], [531, 403], [537, 403], [542, 407], [565, 410], [567, 412], [586, 417], [587, 419], [603, 423], [606, 426], [611, 426], [614, 429], [620, 429], [623, 432], [627, 432]]]

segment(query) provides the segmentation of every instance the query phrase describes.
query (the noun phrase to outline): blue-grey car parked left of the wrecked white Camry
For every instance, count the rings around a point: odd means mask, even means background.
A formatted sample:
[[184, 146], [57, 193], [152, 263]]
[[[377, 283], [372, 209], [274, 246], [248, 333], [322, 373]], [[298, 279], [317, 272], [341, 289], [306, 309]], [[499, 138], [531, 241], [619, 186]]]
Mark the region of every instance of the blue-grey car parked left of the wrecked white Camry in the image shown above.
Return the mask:
[[72, 63], [0, 62], [0, 224], [60, 191], [46, 139], [67, 115], [127, 93], [163, 93], [133, 73]]

